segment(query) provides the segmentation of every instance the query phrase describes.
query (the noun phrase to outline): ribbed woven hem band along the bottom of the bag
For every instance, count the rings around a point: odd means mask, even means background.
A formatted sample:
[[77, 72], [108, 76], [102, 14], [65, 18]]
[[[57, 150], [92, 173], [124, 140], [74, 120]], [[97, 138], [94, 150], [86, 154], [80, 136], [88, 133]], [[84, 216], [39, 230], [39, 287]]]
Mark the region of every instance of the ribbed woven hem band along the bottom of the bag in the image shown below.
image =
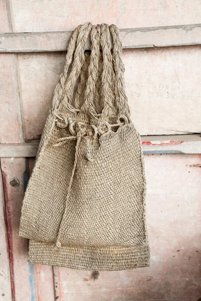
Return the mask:
[[149, 245], [122, 247], [56, 247], [30, 240], [28, 261], [81, 270], [125, 270], [150, 264]]

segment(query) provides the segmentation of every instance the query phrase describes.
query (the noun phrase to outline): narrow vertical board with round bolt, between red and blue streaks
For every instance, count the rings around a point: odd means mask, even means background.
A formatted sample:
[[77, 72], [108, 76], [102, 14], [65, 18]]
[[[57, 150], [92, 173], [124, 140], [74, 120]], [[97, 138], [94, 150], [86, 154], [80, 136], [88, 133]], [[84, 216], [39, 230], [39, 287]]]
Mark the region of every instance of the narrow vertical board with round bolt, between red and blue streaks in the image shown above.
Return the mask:
[[[27, 262], [28, 240], [18, 236], [22, 200], [24, 196], [25, 159], [1, 160], [6, 212], [9, 235], [9, 255], [11, 263], [12, 300], [22, 300], [22, 295], [29, 301], [31, 288], [29, 283], [29, 265]], [[12, 178], [17, 178], [20, 185], [16, 188], [10, 185]], [[23, 283], [23, 286], [22, 286]]]

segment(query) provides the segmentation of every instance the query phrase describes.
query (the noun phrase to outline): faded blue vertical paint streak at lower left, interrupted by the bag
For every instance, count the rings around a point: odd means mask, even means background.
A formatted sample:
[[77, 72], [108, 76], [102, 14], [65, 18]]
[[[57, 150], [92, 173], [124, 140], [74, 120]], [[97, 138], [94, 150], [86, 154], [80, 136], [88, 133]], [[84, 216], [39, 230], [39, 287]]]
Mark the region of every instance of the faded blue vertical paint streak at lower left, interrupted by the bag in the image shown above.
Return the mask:
[[[28, 184], [28, 173], [27, 171], [23, 175], [24, 179], [24, 190], [26, 191], [27, 189], [27, 184]], [[35, 264], [29, 262], [29, 282], [31, 286], [31, 301], [37, 301], [38, 296], [37, 296], [37, 283], [36, 283], [36, 269], [35, 269]]]

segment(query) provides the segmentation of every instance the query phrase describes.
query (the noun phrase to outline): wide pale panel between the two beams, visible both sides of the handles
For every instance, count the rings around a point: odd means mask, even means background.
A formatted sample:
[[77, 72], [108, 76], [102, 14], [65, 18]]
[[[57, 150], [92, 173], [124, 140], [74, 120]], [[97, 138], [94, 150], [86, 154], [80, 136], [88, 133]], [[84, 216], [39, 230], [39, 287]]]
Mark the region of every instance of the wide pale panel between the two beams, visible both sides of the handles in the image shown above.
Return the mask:
[[[19, 55], [27, 139], [42, 133], [64, 60], [64, 53]], [[199, 46], [124, 50], [123, 60], [131, 117], [141, 135], [201, 131]]]

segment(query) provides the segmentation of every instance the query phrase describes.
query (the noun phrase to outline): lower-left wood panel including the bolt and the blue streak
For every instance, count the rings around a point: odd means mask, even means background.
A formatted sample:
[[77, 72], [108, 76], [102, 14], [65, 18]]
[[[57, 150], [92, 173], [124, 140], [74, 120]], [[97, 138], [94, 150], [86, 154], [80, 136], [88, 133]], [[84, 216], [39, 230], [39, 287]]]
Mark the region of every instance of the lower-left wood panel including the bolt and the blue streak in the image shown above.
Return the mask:
[[[18, 236], [27, 172], [24, 158], [1, 160], [8, 221], [9, 253], [13, 300], [54, 300], [53, 270], [51, 266], [27, 261], [28, 240]], [[12, 187], [17, 178], [20, 185]]]

